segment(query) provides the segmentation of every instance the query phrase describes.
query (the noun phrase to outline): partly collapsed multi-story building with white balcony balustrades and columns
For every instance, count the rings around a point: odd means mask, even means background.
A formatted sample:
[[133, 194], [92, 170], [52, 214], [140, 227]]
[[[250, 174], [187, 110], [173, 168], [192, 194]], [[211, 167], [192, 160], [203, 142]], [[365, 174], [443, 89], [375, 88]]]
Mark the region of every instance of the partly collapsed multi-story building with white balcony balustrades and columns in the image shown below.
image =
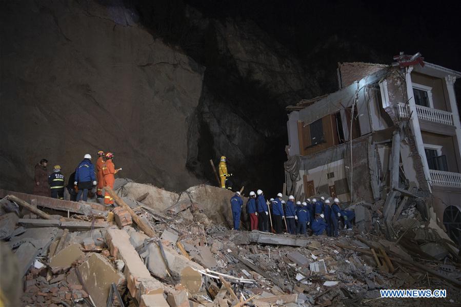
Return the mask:
[[432, 194], [437, 219], [458, 241], [461, 125], [453, 85], [461, 73], [419, 53], [394, 59], [338, 64], [337, 92], [287, 107], [288, 193], [382, 199], [387, 218], [404, 190]]

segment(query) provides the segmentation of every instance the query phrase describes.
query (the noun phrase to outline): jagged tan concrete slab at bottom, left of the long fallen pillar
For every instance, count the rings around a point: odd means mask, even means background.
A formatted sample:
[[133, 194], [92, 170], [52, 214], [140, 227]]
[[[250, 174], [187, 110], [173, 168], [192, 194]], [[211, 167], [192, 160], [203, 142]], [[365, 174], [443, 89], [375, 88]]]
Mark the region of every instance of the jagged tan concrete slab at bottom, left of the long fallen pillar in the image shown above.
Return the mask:
[[88, 260], [79, 265], [77, 270], [97, 307], [106, 307], [112, 283], [117, 287], [126, 284], [125, 277], [104, 256], [96, 253], [90, 253]]

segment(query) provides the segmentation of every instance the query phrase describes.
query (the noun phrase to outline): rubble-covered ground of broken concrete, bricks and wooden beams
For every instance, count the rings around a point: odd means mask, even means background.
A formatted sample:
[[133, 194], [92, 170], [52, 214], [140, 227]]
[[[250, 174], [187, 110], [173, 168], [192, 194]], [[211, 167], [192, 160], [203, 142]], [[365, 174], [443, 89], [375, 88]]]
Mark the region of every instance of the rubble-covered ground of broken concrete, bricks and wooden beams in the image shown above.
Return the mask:
[[[394, 241], [380, 234], [382, 203], [350, 207], [356, 227], [337, 238], [275, 235], [230, 230], [230, 191], [173, 193], [130, 181], [117, 179], [115, 208], [0, 190], [6, 305], [461, 302], [458, 249], [418, 202], [394, 223]], [[381, 298], [383, 289], [445, 289], [447, 297]]]

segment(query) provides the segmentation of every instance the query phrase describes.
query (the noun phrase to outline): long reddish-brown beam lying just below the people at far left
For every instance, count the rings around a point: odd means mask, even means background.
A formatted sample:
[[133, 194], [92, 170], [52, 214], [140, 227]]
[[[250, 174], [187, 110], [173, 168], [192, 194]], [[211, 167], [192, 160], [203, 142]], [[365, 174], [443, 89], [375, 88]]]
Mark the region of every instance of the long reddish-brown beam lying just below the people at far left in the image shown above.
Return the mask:
[[43, 207], [58, 211], [67, 211], [72, 213], [84, 214], [84, 215], [96, 215], [104, 216], [107, 214], [106, 206], [93, 202], [85, 201], [70, 201], [62, 200], [57, 198], [51, 198], [46, 196], [31, 195], [13, 191], [7, 191], [0, 189], [0, 198], [7, 195], [13, 195], [19, 199], [22, 199], [28, 203], [32, 203], [32, 199], [36, 200], [37, 207]]

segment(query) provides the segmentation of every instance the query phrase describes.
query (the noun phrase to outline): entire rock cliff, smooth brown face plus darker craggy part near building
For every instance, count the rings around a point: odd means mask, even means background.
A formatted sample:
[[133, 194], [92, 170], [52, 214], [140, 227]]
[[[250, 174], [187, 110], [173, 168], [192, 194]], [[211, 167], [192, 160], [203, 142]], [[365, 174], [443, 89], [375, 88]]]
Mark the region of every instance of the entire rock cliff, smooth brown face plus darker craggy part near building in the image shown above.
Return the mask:
[[30, 192], [39, 159], [69, 175], [102, 149], [124, 176], [173, 191], [214, 183], [209, 159], [221, 155], [235, 186], [280, 190], [284, 108], [320, 90], [255, 23], [184, 5], [171, 39], [152, 27], [168, 12], [149, 6], [1, 6], [2, 188]]

